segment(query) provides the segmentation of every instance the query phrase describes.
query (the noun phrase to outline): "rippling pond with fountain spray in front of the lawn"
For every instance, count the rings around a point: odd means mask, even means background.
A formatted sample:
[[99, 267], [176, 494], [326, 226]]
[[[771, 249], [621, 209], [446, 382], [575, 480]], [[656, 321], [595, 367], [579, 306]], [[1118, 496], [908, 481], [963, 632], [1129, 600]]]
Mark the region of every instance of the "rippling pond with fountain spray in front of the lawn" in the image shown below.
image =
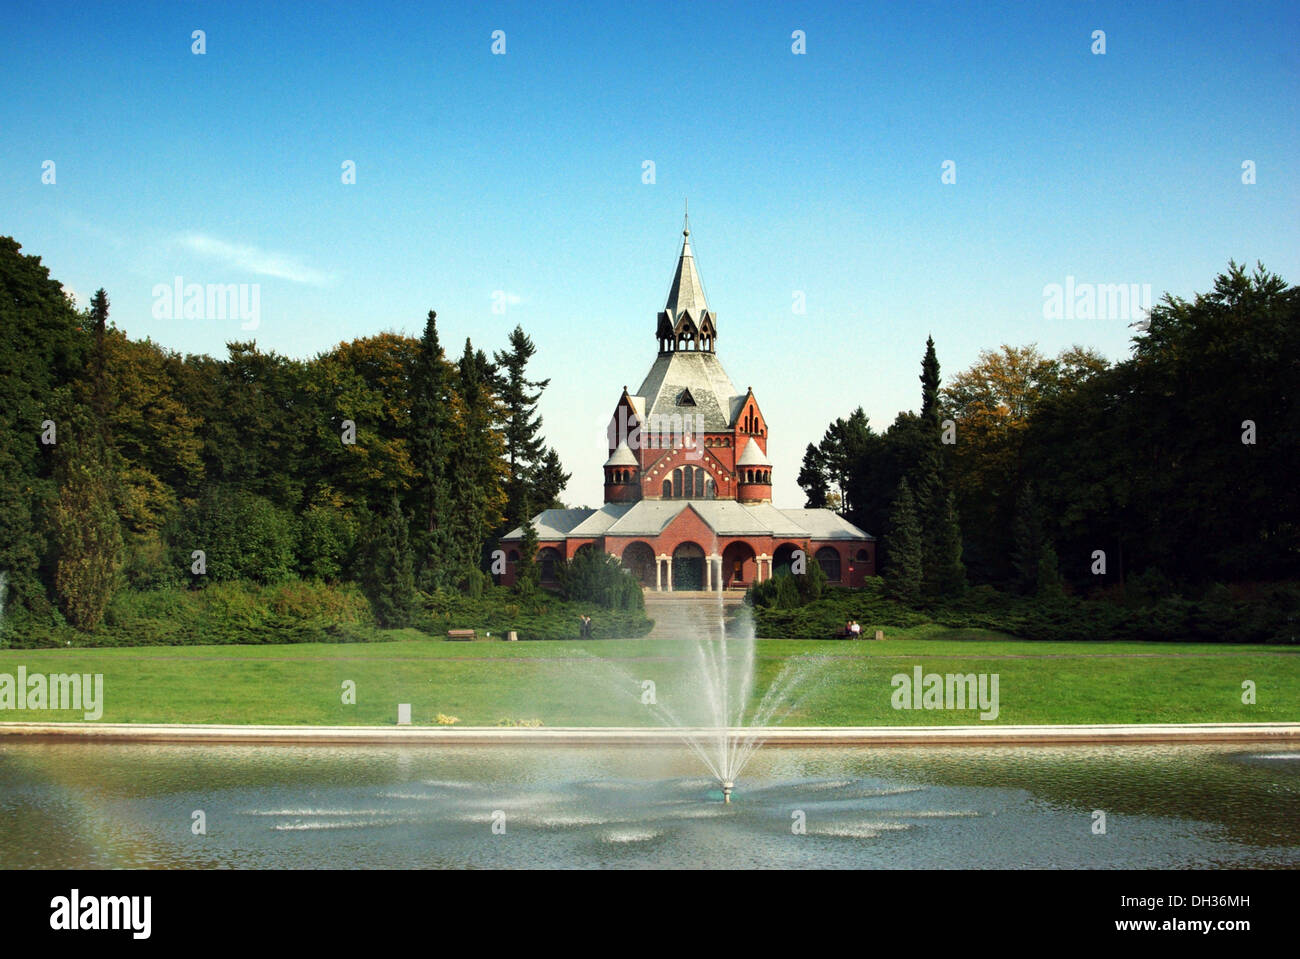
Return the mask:
[[1300, 746], [768, 747], [719, 799], [685, 748], [6, 742], [0, 868], [1300, 867]]

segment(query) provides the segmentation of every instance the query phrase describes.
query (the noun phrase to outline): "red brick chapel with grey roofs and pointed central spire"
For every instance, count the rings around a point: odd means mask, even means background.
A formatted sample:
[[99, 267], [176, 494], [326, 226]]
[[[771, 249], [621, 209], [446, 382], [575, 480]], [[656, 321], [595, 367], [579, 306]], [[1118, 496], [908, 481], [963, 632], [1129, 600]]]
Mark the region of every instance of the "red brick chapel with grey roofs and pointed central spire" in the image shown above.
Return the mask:
[[[772, 504], [767, 420], [753, 389], [738, 391], [718, 359], [718, 317], [690, 249], [690, 226], [659, 312], [659, 352], [608, 428], [604, 505], [533, 517], [542, 582], [578, 550], [604, 550], [649, 590], [745, 589], [818, 563], [831, 582], [875, 573], [875, 538], [831, 509]], [[512, 583], [523, 528], [502, 537]]]

